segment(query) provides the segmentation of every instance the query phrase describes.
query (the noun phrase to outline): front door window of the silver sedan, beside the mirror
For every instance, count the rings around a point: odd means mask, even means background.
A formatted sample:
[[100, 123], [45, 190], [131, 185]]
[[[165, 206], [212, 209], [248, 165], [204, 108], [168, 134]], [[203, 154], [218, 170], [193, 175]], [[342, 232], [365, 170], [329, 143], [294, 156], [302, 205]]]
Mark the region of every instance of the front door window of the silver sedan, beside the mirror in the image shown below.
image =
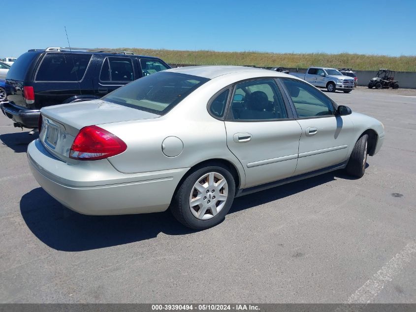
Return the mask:
[[299, 117], [334, 115], [334, 105], [318, 89], [292, 79], [282, 79]]

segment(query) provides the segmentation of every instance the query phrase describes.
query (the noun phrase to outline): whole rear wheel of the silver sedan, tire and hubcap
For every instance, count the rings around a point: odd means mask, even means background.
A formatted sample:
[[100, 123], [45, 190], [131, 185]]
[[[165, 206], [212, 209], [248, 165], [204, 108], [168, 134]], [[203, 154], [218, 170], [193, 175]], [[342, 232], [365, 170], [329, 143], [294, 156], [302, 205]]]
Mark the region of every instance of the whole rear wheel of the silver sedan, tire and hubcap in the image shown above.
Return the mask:
[[204, 230], [224, 220], [235, 195], [235, 181], [224, 167], [213, 164], [195, 170], [179, 186], [170, 205], [183, 225]]

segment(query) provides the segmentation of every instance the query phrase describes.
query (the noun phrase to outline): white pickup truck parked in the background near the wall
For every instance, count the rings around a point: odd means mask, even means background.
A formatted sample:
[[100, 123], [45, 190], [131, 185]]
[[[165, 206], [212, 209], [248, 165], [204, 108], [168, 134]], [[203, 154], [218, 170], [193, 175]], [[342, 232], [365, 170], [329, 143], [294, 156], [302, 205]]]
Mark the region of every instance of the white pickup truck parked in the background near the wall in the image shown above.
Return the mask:
[[289, 74], [306, 80], [315, 87], [326, 88], [329, 92], [340, 90], [350, 93], [354, 89], [354, 79], [344, 76], [333, 68], [310, 67], [306, 73], [289, 72]]

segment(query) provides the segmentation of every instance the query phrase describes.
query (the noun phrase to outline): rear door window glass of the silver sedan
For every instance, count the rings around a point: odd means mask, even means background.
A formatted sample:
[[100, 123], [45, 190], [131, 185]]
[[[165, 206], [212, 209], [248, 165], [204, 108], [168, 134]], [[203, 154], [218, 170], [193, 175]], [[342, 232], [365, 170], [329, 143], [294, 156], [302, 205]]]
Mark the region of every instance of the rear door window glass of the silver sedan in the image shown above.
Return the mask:
[[254, 80], [236, 86], [231, 112], [235, 120], [287, 118], [283, 97], [273, 79]]

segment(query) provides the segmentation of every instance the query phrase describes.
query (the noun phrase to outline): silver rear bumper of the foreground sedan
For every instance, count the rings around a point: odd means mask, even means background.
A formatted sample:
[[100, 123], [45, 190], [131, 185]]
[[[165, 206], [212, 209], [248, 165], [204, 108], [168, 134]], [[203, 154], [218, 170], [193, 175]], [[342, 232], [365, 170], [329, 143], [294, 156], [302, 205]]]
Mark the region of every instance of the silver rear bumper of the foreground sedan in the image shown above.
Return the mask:
[[106, 159], [68, 164], [49, 154], [39, 139], [29, 144], [28, 160], [47, 193], [67, 208], [93, 215], [164, 211], [189, 170], [125, 174]]

